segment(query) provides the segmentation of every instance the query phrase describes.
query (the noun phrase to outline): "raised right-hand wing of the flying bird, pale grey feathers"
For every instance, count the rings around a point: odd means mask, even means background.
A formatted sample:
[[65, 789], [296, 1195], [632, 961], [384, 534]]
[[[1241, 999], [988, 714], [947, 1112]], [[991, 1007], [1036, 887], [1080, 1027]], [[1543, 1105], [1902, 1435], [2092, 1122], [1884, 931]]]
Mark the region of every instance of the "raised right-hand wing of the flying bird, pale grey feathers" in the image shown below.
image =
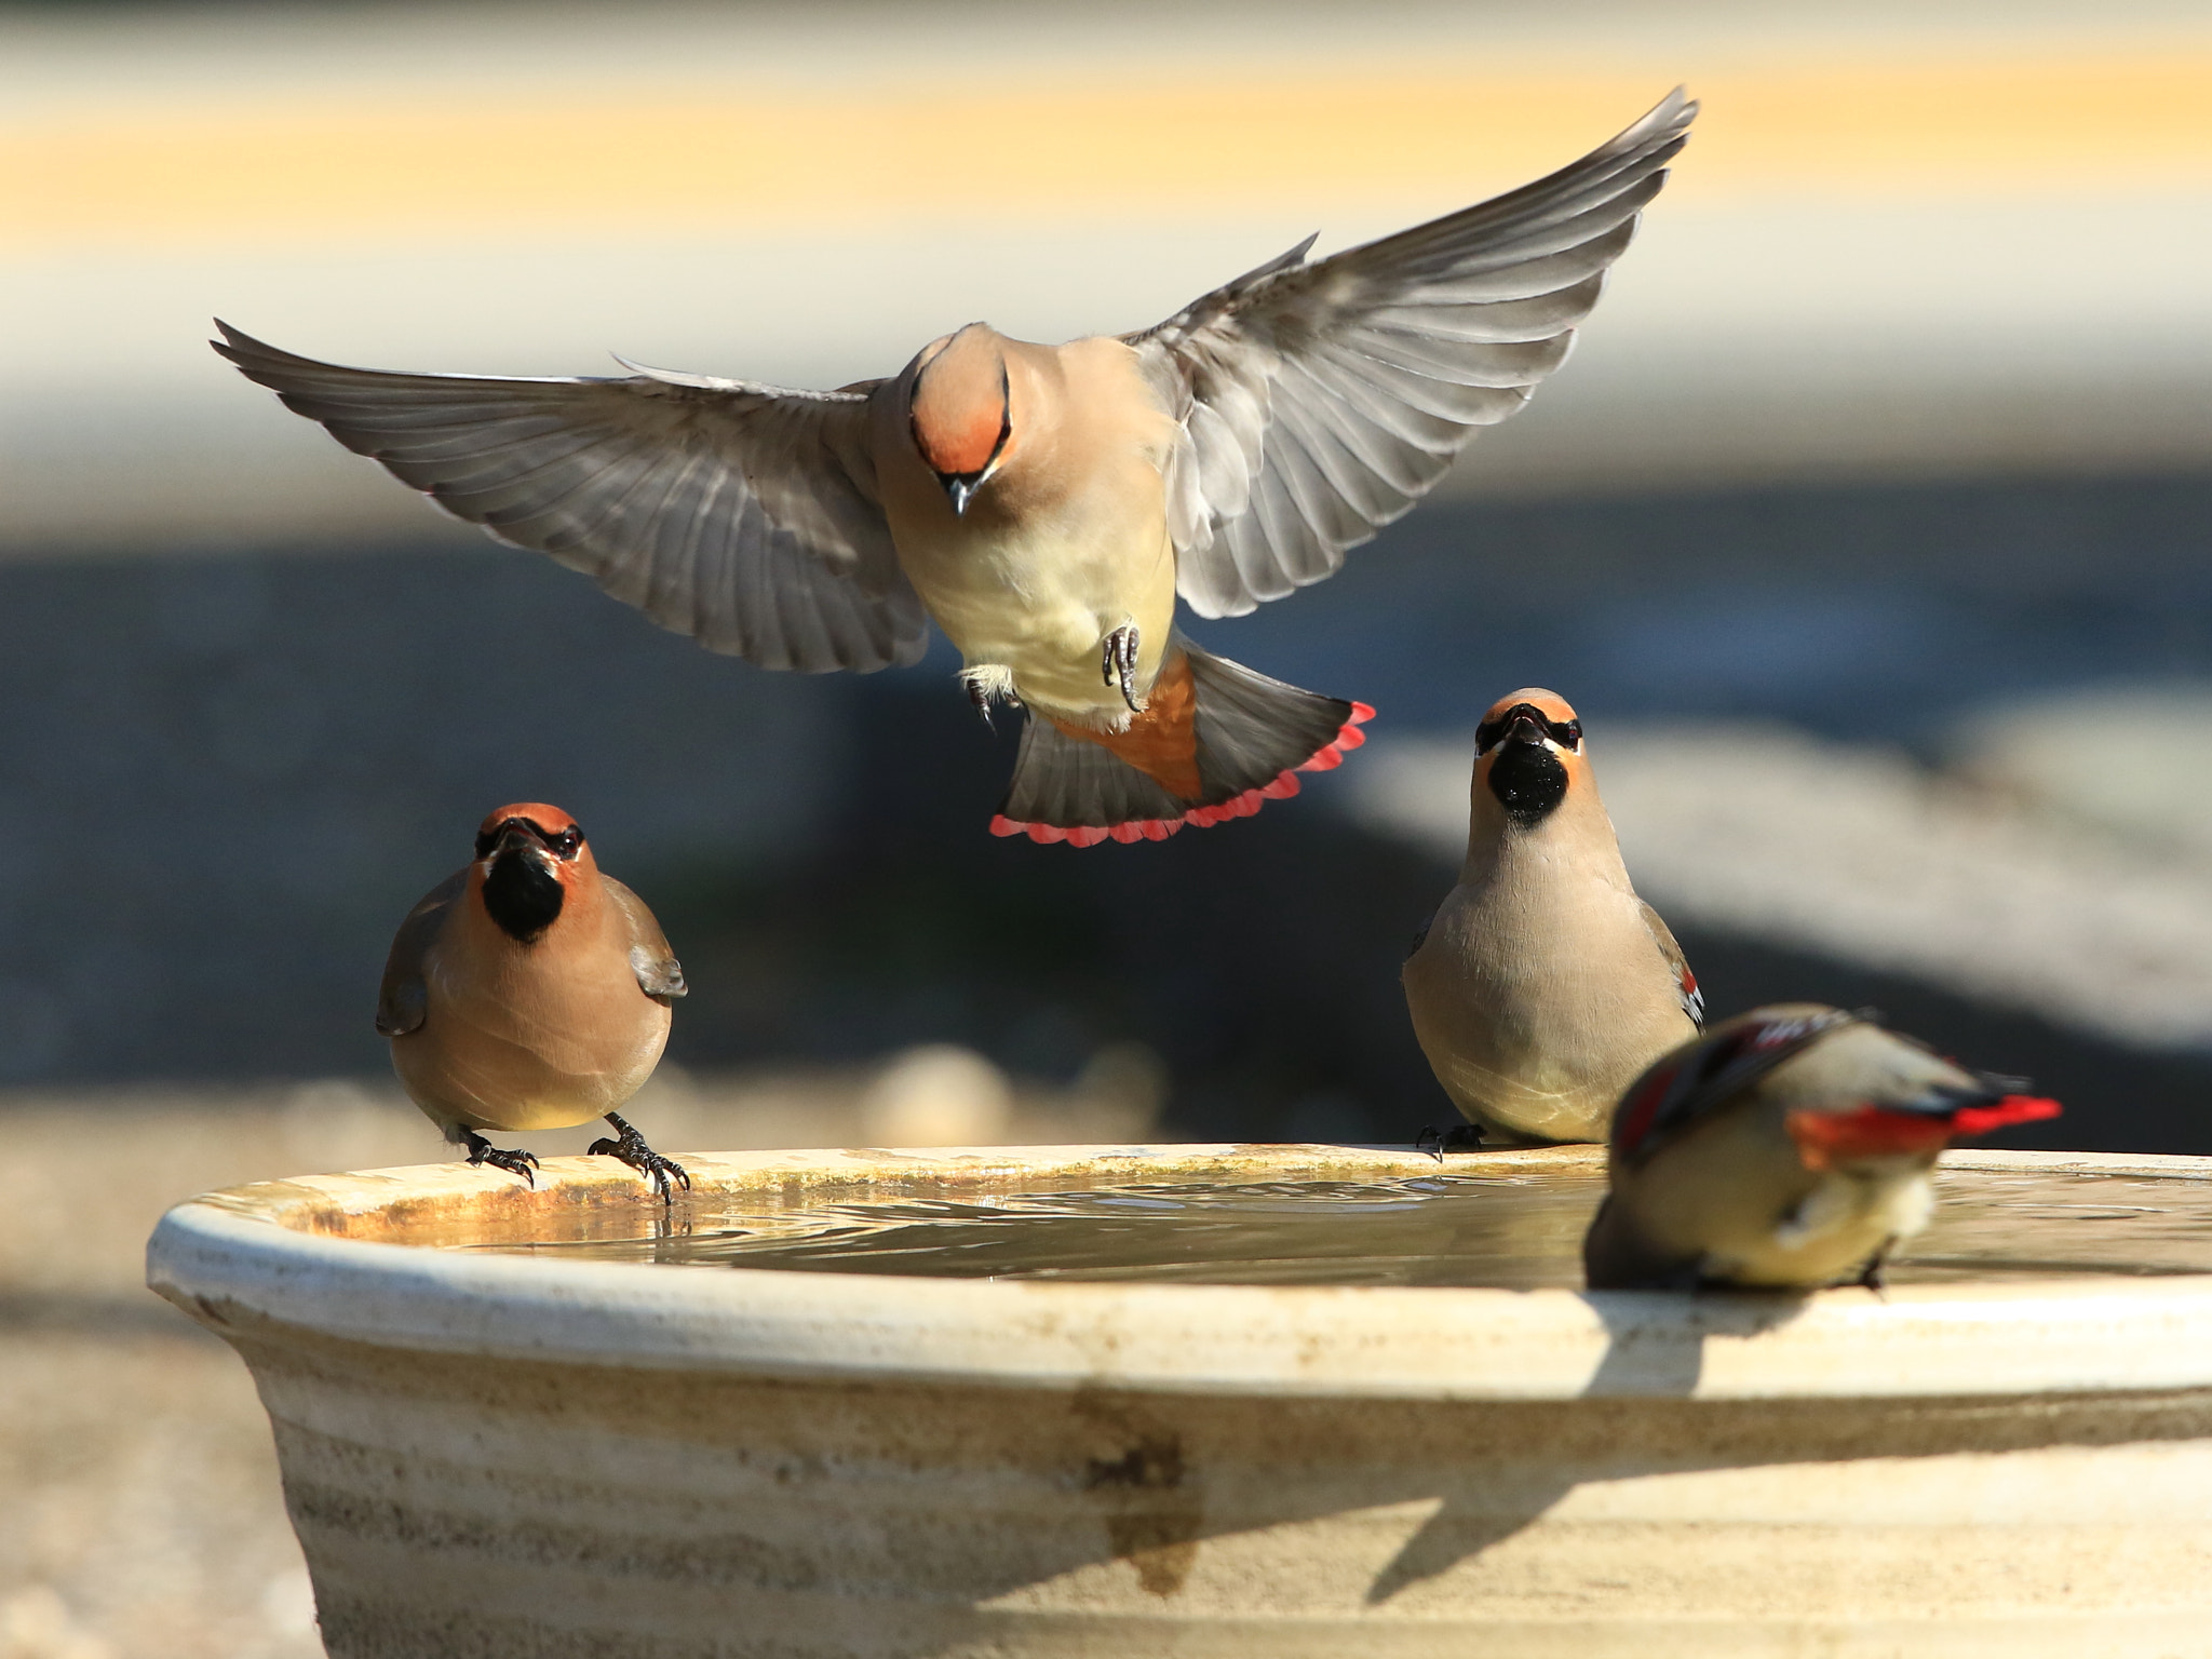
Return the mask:
[[1677, 88], [1568, 168], [1307, 265], [1312, 239], [1128, 336], [1183, 422], [1168, 469], [1177, 588], [1201, 617], [1336, 571], [1475, 427], [1566, 356], [1666, 181]]

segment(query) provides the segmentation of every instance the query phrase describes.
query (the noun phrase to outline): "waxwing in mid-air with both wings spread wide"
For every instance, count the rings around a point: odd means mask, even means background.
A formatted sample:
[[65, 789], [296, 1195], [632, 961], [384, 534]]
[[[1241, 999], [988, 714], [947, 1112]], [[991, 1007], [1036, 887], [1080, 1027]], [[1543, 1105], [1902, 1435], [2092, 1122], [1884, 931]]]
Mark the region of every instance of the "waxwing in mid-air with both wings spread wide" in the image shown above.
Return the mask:
[[648, 369], [383, 374], [226, 323], [215, 349], [447, 511], [761, 668], [920, 659], [933, 617], [989, 719], [1026, 706], [995, 834], [1161, 841], [1250, 816], [1360, 743], [1365, 703], [1199, 650], [1334, 573], [1597, 303], [1697, 106], [1679, 91], [1522, 190], [1135, 334], [984, 323], [841, 392]]

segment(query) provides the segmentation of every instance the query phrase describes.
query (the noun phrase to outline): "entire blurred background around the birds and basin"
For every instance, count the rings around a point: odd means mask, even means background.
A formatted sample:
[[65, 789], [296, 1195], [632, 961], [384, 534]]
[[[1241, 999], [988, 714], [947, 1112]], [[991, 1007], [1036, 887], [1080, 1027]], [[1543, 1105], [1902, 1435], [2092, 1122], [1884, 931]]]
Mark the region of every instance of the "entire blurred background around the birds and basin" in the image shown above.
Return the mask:
[[[204, 345], [838, 385], [1148, 325], [1677, 82], [1528, 411], [1194, 628], [1369, 748], [1161, 845], [993, 841], [1015, 739], [942, 646], [701, 653]], [[374, 984], [511, 799], [684, 956], [670, 1150], [1402, 1141], [1449, 1104], [1398, 960], [1542, 684], [1717, 1011], [1874, 1004], [2066, 1099], [2015, 1144], [2212, 1150], [2208, 276], [2212, 20], [2163, 0], [0, 2], [0, 1659], [316, 1650], [243, 1378], [135, 1250], [442, 1157]]]

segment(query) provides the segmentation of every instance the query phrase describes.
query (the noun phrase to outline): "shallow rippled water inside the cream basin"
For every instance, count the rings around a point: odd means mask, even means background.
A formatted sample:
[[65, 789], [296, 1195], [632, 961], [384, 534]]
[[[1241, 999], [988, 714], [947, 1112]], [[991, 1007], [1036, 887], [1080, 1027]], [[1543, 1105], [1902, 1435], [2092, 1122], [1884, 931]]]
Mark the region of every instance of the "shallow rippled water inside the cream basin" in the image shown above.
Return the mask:
[[[779, 1206], [577, 1210], [538, 1237], [403, 1239], [445, 1250], [677, 1267], [1199, 1285], [1582, 1285], [1597, 1175], [1099, 1186]], [[1893, 1283], [2212, 1272], [2212, 1183], [1951, 1170]]]

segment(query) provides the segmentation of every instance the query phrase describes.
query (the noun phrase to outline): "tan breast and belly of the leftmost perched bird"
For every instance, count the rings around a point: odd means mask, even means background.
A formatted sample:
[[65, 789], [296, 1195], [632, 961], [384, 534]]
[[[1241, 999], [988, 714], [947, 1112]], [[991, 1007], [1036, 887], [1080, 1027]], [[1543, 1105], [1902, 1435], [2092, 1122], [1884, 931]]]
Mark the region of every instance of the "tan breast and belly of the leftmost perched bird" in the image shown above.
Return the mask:
[[422, 962], [422, 1026], [394, 1040], [409, 1095], [473, 1128], [560, 1128], [622, 1106], [653, 1075], [668, 1009], [637, 987], [611, 905], [535, 945], [462, 911]]

